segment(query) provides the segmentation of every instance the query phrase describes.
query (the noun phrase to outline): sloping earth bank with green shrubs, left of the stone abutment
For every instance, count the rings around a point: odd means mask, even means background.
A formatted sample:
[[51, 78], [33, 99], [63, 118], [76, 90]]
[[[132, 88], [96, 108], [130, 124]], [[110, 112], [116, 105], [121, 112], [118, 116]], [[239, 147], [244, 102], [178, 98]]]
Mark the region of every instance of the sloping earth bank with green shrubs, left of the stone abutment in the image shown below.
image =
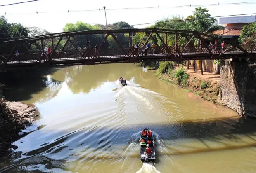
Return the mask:
[[155, 68], [156, 75], [159, 79], [172, 84], [177, 84], [183, 87], [186, 91], [193, 92], [196, 96], [217, 103], [219, 84], [192, 77], [185, 72], [183, 67], [175, 67], [171, 61], [162, 61], [158, 63], [157, 68], [156, 66], [153, 67]]

